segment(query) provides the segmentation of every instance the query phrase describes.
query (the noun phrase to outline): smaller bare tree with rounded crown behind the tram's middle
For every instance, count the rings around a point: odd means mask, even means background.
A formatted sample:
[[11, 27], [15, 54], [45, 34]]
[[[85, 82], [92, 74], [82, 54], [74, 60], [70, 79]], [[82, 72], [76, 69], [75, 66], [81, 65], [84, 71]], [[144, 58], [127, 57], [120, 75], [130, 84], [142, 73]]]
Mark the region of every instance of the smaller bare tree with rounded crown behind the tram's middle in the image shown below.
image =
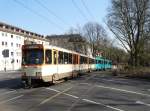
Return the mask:
[[85, 24], [83, 27], [83, 35], [91, 44], [91, 49], [94, 55], [96, 51], [102, 50], [104, 43], [107, 44], [108, 42], [105, 29], [98, 23], [89, 22]]

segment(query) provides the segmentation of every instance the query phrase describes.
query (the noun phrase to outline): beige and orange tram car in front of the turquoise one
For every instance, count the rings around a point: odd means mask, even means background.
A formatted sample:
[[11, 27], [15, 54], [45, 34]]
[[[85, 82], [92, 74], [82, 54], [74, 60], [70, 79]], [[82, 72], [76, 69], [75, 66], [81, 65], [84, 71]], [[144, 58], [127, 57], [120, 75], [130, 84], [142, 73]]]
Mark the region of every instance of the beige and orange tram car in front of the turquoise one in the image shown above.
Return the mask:
[[94, 58], [74, 51], [42, 44], [22, 46], [22, 81], [27, 85], [75, 77], [94, 69]]

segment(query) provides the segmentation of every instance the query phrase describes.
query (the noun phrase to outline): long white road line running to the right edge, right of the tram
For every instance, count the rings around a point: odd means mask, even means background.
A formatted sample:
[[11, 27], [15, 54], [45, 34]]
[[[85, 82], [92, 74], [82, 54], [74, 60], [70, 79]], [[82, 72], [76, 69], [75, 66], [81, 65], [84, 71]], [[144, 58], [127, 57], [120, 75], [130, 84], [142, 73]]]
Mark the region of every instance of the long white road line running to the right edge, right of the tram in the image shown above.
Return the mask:
[[118, 88], [113, 88], [113, 87], [106, 87], [106, 86], [101, 86], [101, 85], [96, 85], [96, 86], [97, 86], [97, 87], [100, 87], [100, 88], [111, 89], [111, 90], [117, 90], [117, 91], [121, 91], [121, 92], [132, 93], [132, 94], [137, 94], [137, 95], [142, 95], [142, 96], [148, 96], [148, 97], [150, 97], [149, 94], [139, 93], [139, 92], [135, 92], [135, 91], [129, 91], [129, 90], [118, 89]]

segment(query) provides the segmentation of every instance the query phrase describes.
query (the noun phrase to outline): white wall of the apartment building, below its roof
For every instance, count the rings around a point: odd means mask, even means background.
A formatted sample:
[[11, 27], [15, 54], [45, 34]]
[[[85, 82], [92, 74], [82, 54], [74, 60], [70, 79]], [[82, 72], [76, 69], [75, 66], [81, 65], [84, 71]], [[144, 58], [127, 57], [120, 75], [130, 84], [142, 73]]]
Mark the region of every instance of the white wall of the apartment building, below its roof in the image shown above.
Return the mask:
[[[0, 71], [4, 71], [4, 68], [6, 68], [6, 70], [18, 70], [21, 68], [21, 47], [24, 44], [25, 38], [26, 37], [24, 36], [0, 31]], [[48, 42], [39, 39], [30, 39], [30, 41], [36, 42], [38, 44], [49, 44]], [[4, 45], [2, 45], [2, 42], [4, 42]], [[9, 57], [7, 58], [3, 57], [2, 55], [2, 51], [5, 49], [9, 50]], [[13, 60], [14, 62], [12, 62]]]

